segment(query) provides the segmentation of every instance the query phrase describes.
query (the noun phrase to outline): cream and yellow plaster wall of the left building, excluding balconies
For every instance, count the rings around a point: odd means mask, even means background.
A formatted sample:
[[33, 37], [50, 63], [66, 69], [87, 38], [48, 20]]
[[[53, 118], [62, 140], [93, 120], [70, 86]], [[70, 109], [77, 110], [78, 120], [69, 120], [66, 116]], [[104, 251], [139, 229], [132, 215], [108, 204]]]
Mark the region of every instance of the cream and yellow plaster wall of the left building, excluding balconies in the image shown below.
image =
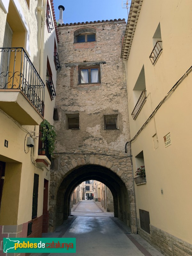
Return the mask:
[[[41, 22], [41, 12], [37, 11], [37, 6], [42, 5], [42, 1], [30, 1], [30, 9], [24, 0], [19, 0], [19, 5], [15, 5], [14, 0], [10, 1], [10, 9], [8, 13], [10, 26], [13, 29], [13, 41], [12, 47], [24, 47], [27, 51], [30, 60], [35, 66], [37, 72], [40, 74], [40, 49], [38, 44], [38, 22]], [[0, 6], [1, 7], [1, 6]], [[51, 7], [51, 2], [50, 2]], [[0, 8], [0, 26], [2, 33], [0, 35], [0, 45], [3, 46], [4, 39], [4, 27], [6, 22], [7, 14], [5, 14]], [[14, 17], [14, 20], [12, 20]], [[44, 118], [47, 119], [51, 124], [53, 124], [53, 108], [55, 100], [50, 99], [47, 87], [46, 87], [46, 65], [47, 65], [47, 55], [49, 57], [50, 65], [52, 68], [52, 79], [56, 90], [56, 69], [53, 62], [53, 52], [54, 52], [54, 38], [56, 38], [55, 29], [51, 33], [48, 33], [45, 24], [44, 32], [44, 70], [42, 75], [42, 80], [45, 84], [45, 112]], [[57, 43], [57, 40], [56, 40]], [[19, 115], [19, 113], [18, 113]], [[0, 111], [0, 161], [6, 160], [6, 168], [9, 165], [8, 161], [18, 161], [20, 162], [20, 174], [18, 170], [13, 170], [10, 172], [12, 178], [17, 181], [17, 189], [15, 186], [13, 188], [16, 193], [13, 193], [10, 189], [11, 183], [6, 185], [5, 192], [6, 200], [9, 200], [9, 196], [15, 198], [15, 203], [7, 204], [4, 210], [4, 218], [2, 214], [0, 216], [0, 221], [2, 225], [16, 225], [22, 224], [31, 220], [32, 214], [32, 196], [33, 196], [33, 180], [34, 173], [39, 174], [39, 190], [38, 190], [38, 209], [37, 217], [41, 216], [43, 213], [43, 193], [44, 193], [44, 179], [50, 179], [50, 172], [47, 169], [36, 168], [30, 156], [30, 151], [28, 154], [24, 152], [24, 141], [27, 132], [22, 130], [20, 125], [15, 124], [12, 119], [7, 117], [4, 113]], [[29, 132], [35, 130], [35, 126], [23, 126]], [[32, 134], [32, 133], [31, 133]], [[29, 136], [29, 134], [28, 134]], [[9, 141], [8, 148], [4, 147], [4, 140]], [[31, 150], [31, 149], [30, 149]], [[28, 147], [27, 147], [28, 151]], [[8, 157], [8, 158], [6, 158]], [[12, 180], [10, 180], [12, 182]], [[9, 189], [8, 189], [9, 188]], [[13, 190], [14, 191], [14, 190]], [[10, 194], [11, 193], [11, 194]], [[12, 195], [13, 193], [13, 195]], [[3, 194], [3, 198], [4, 198]], [[4, 200], [4, 199], [2, 199]], [[9, 207], [14, 207], [14, 214], [9, 214]], [[12, 209], [12, 208], [10, 208]], [[18, 214], [17, 214], [18, 213]], [[6, 219], [8, 216], [9, 219]], [[7, 224], [9, 222], [9, 224]], [[11, 224], [10, 224], [11, 223]]]

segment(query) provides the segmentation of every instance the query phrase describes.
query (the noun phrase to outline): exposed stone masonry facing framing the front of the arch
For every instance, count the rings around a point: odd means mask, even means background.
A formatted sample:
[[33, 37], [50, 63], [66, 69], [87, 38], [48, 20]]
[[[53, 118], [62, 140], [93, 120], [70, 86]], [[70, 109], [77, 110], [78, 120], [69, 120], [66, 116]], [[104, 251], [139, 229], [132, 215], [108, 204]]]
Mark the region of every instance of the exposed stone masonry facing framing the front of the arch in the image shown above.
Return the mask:
[[[83, 151], [83, 150], [82, 150]], [[54, 168], [51, 171], [51, 183], [50, 183], [50, 207], [49, 207], [49, 231], [54, 231], [54, 227], [56, 225], [56, 203], [57, 208], [59, 207], [60, 214], [62, 214], [62, 206], [63, 198], [57, 198], [57, 191], [60, 187], [60, 183], [63, 180], [63, 177], [66, 177], [71, 170], [78, 168], [79, 166], [83, 165], [101, 165], [103, 167], [109, 168], [112, 172], [115, 172], [118, 177], [125, 184], [125, 188], [128, 193], [127, 204], [128, 204], [128, 211], [127, 209], [123, 209], [122, 212], [118, 213], [118, 216], [121, 220], [126, 222], [132, 229], [133, 233], [136, 233], [136, 219], [135, 219], [135, 202], [134, 202], [134, 193], [132, 188], [132, 167], [131, 161], [129, 157], [122, 158], [117, 162], [116, 158], [105, 156], [105, 155], [81, 155], [83, 153], [80, 150], [72, 151], [71, 153], [76, 153], [76, 155], [71, 156], [70, 154], [61, 154], [59, 156], [56, 155], [56, 159], [54, 163]], [[96, 151], [98, 154], [102, 154], [102, 150]], [[78, 155], [78, 153], [80, 155]], [[115, 152], [111, 152], [113, 154]], [[121, 152], [119, 157], [125, 156], [124, 152]], [[76, 178], [76, 176], [73, 176]], [[58, 200], [59, 199], [59, 200]], [[58, 209], [57, 209], [58, 212]], [[61, 216], [62, 218], [62, 216]]]

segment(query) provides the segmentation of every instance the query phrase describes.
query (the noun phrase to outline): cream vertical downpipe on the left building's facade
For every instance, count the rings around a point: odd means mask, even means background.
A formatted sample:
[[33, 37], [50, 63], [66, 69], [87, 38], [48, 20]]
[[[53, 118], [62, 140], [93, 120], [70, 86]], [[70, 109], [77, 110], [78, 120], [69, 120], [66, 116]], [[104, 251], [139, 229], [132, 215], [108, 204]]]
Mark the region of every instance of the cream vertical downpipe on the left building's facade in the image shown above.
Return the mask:
[[[43, 1], [44, 8], [46, 7], [46, 0]], [[38, 6], [37, 10], [41, 13], [42, 21], [39, 20], [38, 23], [38, 47], [40, 47], [40, 65], [39, 65], [39, 73], [40, 77], [43, 77], [43, 67], [44, 67], [44, 32], [45, 32], [45, 9], [42, 6]], [[41, 30], [40, 30], [41, 28]], [[43, 79], [42, 79], [43, 80]], [[39, 137], [39, 125], [35, 126], [35, 136]], [[40, 139], [40, 138], [39, 138]], [[34, 160], [38, 157], [38, 146], [39, 146], [39, 139], [34, 141]]]

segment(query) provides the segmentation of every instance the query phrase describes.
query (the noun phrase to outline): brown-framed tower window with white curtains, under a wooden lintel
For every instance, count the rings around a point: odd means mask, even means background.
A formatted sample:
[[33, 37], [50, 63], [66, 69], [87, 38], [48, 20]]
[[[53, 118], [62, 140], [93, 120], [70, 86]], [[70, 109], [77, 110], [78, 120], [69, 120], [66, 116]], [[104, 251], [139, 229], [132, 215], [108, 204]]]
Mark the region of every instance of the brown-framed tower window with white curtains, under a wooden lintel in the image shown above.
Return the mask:
[[79, 67], [79, 84], [100, 83], [100, 67]]

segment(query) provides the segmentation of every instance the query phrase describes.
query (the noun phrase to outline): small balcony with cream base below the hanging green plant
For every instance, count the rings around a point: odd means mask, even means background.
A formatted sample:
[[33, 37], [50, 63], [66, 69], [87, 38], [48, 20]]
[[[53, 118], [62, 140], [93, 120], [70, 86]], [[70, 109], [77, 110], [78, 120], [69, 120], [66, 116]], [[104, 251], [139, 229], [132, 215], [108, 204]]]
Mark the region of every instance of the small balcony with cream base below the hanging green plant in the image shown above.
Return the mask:
[[51, 164], [51, 155], [48, 150], [48, 141], [44, 142], [41, 140], [42, 131], [39, 131], [39, 146], [38, 146], [38, 157], [36, 159], [36, 163], [38, 163], [42, 167], [48, 167]]

